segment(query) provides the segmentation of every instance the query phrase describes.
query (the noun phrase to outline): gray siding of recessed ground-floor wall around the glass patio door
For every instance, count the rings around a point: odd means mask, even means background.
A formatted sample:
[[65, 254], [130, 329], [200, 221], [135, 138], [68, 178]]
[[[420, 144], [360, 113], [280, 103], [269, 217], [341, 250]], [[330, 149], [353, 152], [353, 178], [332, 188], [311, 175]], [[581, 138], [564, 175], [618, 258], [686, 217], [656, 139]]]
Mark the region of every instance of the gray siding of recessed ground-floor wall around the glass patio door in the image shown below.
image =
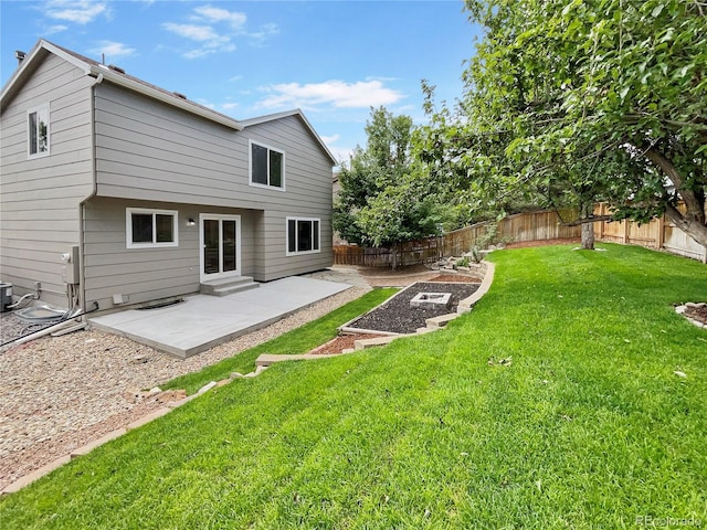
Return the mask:
[[[178, 212], [178, 246], [127, 248], [126, 209], [145, 208]], [[199, 214], [241, 215], [241, 274], [253, 276], [255, 267], [255, 225], [260, 212], [208, 205], [147, 202], [95, 198], [85, 205], [84, 264], [88, 304], [99, 310], [197, 293], [200, 284]], [[188, 226], [189, 219], [197, 221]]]

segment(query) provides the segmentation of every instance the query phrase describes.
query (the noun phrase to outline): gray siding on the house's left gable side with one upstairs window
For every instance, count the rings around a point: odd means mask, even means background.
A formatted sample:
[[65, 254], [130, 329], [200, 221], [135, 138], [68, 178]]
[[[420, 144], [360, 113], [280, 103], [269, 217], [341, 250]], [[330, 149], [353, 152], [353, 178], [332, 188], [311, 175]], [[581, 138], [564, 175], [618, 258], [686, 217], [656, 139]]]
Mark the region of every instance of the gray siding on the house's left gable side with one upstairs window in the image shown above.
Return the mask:
[[[91, 83], [49, 54], [2, 112], [0, 271], [14, 293], [66, 307], [61, 254], [80, 244], [80, 202], [93, 190]], [[28, 159], [28, 110], [50, 105], [50, 155]], [[54, 292], [54, 293], [52, 293]]]

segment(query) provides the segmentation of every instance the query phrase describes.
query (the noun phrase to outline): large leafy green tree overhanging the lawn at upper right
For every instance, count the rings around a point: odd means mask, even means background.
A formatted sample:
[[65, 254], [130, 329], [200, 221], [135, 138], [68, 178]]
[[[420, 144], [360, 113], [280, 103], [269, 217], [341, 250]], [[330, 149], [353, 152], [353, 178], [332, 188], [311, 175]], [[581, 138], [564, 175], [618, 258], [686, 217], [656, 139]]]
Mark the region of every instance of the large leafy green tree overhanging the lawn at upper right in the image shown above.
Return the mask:
[[466, 8], [486, 33], [464, 72], [462, 100], [454, 114], [434, 113], [423, 152], [455, 166], [466, 193], [485, 205], [518, 192], [605, 200], [613, 219], [665, 213], [707, 246], [707, 4], [467, 0]]

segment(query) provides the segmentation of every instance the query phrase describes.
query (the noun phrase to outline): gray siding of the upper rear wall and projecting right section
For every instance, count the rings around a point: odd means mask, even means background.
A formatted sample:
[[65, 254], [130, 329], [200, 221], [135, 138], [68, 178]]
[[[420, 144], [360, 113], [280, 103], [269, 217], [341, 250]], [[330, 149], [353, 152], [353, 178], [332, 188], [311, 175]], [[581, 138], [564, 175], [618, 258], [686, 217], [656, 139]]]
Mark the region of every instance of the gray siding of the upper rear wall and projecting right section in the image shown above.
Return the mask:
[[[331, 265], [331, 161], [297, 116], [235, 131], [108, 83], [95, 94], [99, 197], [260, 211], [257, 280]], [[285, 152], [284, 191], [249, 184], [250, 139]], [[287, 216], [320, 219], [319, 253], [286, 255]]]

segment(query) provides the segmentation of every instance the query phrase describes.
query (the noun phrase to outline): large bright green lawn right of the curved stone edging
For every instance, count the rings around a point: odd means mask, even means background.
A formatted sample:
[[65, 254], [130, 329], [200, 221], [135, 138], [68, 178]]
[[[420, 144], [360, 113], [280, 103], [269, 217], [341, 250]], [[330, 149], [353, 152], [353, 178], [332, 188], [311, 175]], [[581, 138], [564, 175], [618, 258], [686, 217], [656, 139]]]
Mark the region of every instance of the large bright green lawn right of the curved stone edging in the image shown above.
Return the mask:
[[672, 308], [707, 300], [707, 267], [601, 246], [494, 253], [449, 329], [214, 389], [0, 500], [0, 526], [707, 526], [707, 330]]

